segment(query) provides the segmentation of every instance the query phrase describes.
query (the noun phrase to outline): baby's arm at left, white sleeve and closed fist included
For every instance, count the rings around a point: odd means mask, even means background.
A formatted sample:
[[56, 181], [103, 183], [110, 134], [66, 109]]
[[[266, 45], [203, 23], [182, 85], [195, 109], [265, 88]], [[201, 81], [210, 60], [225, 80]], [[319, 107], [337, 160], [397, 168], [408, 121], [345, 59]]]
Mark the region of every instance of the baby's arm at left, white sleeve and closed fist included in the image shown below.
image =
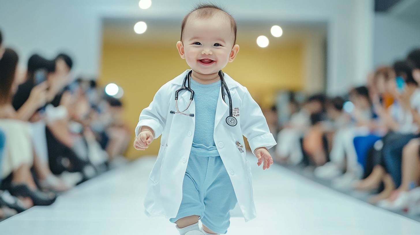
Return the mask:
[[135, 130], [136, 139], [134, 140], [134, 148], [137, 150], [146, 149], [155, 138], [162, 134], [163, 128], [165, 128], [169, 110], [166, 86], [167, 84], [163, 85], [156, 92], [149, 107], [140, 113], [139, 123]]

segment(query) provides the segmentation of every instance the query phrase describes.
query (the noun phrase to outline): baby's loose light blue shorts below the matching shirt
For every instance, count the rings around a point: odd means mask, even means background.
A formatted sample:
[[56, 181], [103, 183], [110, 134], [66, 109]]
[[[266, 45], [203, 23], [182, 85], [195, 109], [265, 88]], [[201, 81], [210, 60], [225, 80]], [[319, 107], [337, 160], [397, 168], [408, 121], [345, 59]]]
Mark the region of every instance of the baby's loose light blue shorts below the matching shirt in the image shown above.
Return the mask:
[[210, 230], [225, 234], [230, 225], [229, 211], [237, 202], [235, 191], [220, 156], [208, 150], [201, 153], [192, 148], [182, 185], [181, 206], [176, 217], [169, 221], [174, 223], [198, 215]]

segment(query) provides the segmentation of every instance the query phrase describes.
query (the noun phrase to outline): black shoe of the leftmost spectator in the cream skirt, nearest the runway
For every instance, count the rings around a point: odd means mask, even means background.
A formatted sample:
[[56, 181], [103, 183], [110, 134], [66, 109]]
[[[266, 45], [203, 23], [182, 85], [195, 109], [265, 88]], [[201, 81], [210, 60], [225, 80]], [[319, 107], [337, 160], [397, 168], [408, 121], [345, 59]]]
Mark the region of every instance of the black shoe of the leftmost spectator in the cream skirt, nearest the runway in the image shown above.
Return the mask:
[[44, 193], [39, 190], [32, 190], [26, 184], [12, 184], [10, 192], [14, 196], [29, 197], [34, 202], [34, 206], [49, 206], [57, 199], [55, 193]]

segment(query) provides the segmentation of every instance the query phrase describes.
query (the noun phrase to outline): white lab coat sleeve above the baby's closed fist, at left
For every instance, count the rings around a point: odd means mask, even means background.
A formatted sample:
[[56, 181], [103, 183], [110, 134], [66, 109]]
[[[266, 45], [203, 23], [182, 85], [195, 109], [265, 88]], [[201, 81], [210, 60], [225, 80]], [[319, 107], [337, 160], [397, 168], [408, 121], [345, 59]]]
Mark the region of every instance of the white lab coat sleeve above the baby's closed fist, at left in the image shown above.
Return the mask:
[[136, 126], [136, 136], [139, 135], [139, 129], [142, 126], [152, 128], [155, 137], [159, 137], [163, 128], [165, 128], [166, 118], [168, 117], [169, 98], [167, 97], [168, 84], [163, 85], [153, 97], [149, 107], [142, 110], [139, 117], [139, 123]]

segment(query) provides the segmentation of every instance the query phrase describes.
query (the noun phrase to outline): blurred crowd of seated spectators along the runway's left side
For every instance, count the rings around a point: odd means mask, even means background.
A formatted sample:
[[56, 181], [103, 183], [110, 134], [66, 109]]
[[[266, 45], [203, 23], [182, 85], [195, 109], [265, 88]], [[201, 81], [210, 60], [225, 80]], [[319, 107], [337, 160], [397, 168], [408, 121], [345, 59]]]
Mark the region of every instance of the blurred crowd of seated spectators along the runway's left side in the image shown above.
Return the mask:
[[0, 219], [53, 204], [59, 193], [125, 163], [123, 105], [73, 60], [32, 55], [27, 70], [0, 32]]

